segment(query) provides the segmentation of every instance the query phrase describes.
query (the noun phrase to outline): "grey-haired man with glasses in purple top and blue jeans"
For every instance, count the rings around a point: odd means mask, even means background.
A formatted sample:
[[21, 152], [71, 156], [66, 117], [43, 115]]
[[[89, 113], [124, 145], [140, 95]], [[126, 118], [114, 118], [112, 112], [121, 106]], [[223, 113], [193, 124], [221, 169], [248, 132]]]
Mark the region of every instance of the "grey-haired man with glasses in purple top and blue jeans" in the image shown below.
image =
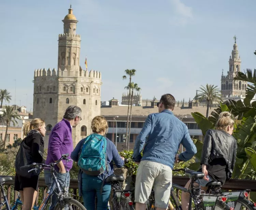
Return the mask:
[[[70, 159], [70, 154], [73, 151], [73, 140], [72, 140], [72, 127], [79, 124], [81, 118], [82, 110], [78, 106], [69, 106], [63, 119], [58, 122], [52, 129], [49, 136], [48, 142], [48, 153], [45, 164], [52, 162], [57, 162], [62, 154], [69, 154], [68, 159]], [[72, 161], [60, 161], [57, 166], [55, 166], [58, 172], [58, 181], [61, 188], [65, 188], [68, 193], [70, 176], [69, 170], [72, 168]], [[46, 185], [49, 187], [52, 182], [52, 176], [49, 169], [44, 170], [44, 179]], [[56, 196], [53, 194], [52, 203], [49, 210], [53, 210], [57, 204]]]

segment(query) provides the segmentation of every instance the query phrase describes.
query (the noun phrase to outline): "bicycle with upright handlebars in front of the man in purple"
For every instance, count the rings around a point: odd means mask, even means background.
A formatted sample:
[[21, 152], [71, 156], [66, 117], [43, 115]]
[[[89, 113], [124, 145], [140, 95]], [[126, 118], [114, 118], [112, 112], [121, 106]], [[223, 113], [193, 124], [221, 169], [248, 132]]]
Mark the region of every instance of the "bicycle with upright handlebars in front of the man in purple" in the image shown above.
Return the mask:
[[[69, 159], [67, 159], [68, 154], [63, 154], [61, 156], [61, 158], [56, 162], [56, 163], [50, 163], [50, 164], [44, 164], [44, 163], [32, 163], [30, 165], [26, 165], [26, 166], [22, 166], [21, 169], [30, 169], [28, 172], [31, 172], [33, 170], [37, 171], [37, 170], [42, 170], [43, 168], [49, 168], [51, 169], [51, 174], [53, 177], [53, 181], [51, 183], [51, 185], [48, 188], [48, 191], [46, 192], [46, 196], [43, 198], [43, 201], [41, 203], [41, 205], [39, 206], [38, 210], [44, 210], [46, 207], [46, 204], [49, 201], [49, 198], [52, 197], [52, 195], [55, 193], [56, 194], [56, 198], [57, 198], [57, 205], [55, 206], [54, 210], [61, 210], [63, 208], [65, 209], [72, 209], [72, 210], [86, 210], [86, 208], [77, 200], [68, 197], [68, 195], [66, 195], [65, 189], [61, 189], [60, 188], [60, 184], [58, 182], [57, 179], [57, 172], [54, 168], [55, 165], [57, 165], [61, 160], [66, 160], [66, 161], [70, 161]], [[7, 209], [10, 210], [10, 209]]]

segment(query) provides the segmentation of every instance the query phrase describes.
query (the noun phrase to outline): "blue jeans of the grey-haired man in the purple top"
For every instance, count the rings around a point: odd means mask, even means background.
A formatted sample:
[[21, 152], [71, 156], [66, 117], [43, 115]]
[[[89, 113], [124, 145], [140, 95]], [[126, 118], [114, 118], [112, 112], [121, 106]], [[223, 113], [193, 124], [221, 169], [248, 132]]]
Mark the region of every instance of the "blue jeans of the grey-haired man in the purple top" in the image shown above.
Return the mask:
[[[57, 173], [57, 179], [60, 184], [60, 188], [63, 189], [66, 187], [65, 191], [68, 194], [68, 188], [69, 188], [69, 182], [70, 182], [69, 171], [66, 174]], [[44, 180], [47, 187], [49, 188], [49, 186], [52, 183], [51, 171], [44, 171]], [[56, 198], [56, 195], [53, 194], [52, 202], [49, 210], [54, 210], [54, 207], [56, 206], [56, 204], [57, 204], [57, 198]]]

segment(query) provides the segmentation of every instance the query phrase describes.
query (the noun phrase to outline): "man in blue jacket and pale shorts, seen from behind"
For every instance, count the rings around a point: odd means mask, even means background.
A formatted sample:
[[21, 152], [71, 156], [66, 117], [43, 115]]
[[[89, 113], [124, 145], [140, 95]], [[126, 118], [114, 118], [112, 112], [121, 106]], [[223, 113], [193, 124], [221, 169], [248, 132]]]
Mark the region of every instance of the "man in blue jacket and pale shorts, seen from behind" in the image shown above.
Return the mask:
[[[173, 115], [174, 106], [175, 99], [171, 94], [162, 95], [157, 103], [159, 113], [148, 115], [136, 139], [133, 151], [133, 161], [139, 163], [135, 183], [136, 210], [146, 209], [153, 186], [155, 206], [158, 210], [166, 209], [174, 163], [188, 161], [197, 152], [187, 126]], [[186, 151], [176, 155], [180, 144]]]

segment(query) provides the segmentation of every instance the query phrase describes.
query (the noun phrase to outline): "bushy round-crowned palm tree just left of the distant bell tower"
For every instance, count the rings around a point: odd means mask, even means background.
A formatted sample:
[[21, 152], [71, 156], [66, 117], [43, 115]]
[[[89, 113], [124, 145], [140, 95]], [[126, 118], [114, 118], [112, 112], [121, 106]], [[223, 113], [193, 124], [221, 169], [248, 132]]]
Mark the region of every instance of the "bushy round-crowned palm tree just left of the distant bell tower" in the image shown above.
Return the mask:
[[221, 90], [218, 88], [218, 86], [214, 85], [208, 85], [206, 84], [205, 87], [201, 85], [200, 90], [198, 90], [200, 93], [197, 95], [199, 101], [205, 100], [207, 102], [207, 110], [206, 110], [206, 118], [208, 118], [209, 115], [209, 107], [212, 107], [212, 104], [214, 101], [222, 101], [221, 99]]

